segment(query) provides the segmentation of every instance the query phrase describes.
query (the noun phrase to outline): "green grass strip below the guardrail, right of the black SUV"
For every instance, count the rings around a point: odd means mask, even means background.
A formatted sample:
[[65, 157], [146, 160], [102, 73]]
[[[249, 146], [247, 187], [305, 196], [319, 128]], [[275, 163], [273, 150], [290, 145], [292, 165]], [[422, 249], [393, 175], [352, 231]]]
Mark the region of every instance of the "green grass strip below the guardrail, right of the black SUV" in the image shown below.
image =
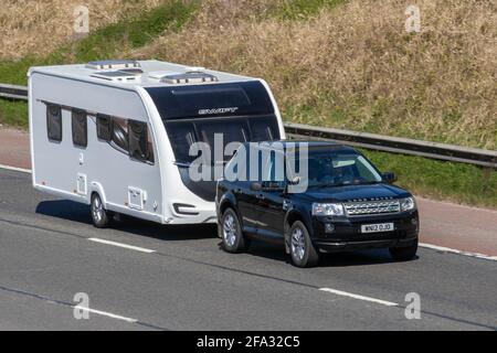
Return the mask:
[[477, 165], [362, 150], [381, 171], [396, 173], [399, 186], [434, 200], [497, 208], [497, 172]]

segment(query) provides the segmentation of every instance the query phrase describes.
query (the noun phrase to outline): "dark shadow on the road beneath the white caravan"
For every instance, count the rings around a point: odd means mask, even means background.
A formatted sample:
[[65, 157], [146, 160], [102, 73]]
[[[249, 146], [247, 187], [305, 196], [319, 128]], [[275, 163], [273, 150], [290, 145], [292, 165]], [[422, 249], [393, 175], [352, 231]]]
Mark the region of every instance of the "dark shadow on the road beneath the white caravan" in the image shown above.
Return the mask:
[[[68, 200], [42, 201], [38, 204], [38, 214], [65, 221], [92, 225], [89, 206]], [[216, 237], [215, 224], [162, 225], [131, 216], [121, 216], [113, 222], [113, 229], [160, 240], [191, 240]]]

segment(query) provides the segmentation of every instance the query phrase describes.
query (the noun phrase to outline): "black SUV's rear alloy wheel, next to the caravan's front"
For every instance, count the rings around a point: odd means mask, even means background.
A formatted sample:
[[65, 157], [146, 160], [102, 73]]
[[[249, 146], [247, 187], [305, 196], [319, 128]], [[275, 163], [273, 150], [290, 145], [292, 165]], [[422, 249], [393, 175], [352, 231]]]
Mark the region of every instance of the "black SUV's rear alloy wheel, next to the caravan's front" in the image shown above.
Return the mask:
[[236, 212], [231, 207], [224, 211], [221, 218], [221, 238], [223, 249], [228, 253], [246, 252], [251, 245], [251, 239], [243, 235]]

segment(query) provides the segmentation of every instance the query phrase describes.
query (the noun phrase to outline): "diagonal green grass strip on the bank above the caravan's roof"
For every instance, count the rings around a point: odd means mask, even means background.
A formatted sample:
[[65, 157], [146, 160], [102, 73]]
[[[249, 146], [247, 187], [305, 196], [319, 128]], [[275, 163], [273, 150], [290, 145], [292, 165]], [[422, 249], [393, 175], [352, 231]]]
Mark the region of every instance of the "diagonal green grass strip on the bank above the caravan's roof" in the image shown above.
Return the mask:
[[198, 0], [167, 1], [138, 17], [123, 19], [91, 33], [83, 40], [63, 45], [45, 57], [31, 55], [14, 62], [1, 61], [0, 83], [25, 85], [28, 69], [35, 65], [85, 63], [121, 57], [124, 51], [144, 46], [166, 31], [180, 31], [193, 18], [199, 4]]

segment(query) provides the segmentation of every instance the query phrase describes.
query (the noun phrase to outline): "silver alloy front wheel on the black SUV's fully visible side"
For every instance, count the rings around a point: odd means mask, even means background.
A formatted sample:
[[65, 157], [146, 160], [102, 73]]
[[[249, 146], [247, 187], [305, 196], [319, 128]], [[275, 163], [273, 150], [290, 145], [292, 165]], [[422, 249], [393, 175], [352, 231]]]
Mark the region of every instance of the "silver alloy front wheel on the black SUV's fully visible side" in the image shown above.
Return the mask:
[[289, 229], [289, 254], [292, 263], [297, 267], [314, 267], [319, 263], [319, 253], [300, 221], [295, 221]]

